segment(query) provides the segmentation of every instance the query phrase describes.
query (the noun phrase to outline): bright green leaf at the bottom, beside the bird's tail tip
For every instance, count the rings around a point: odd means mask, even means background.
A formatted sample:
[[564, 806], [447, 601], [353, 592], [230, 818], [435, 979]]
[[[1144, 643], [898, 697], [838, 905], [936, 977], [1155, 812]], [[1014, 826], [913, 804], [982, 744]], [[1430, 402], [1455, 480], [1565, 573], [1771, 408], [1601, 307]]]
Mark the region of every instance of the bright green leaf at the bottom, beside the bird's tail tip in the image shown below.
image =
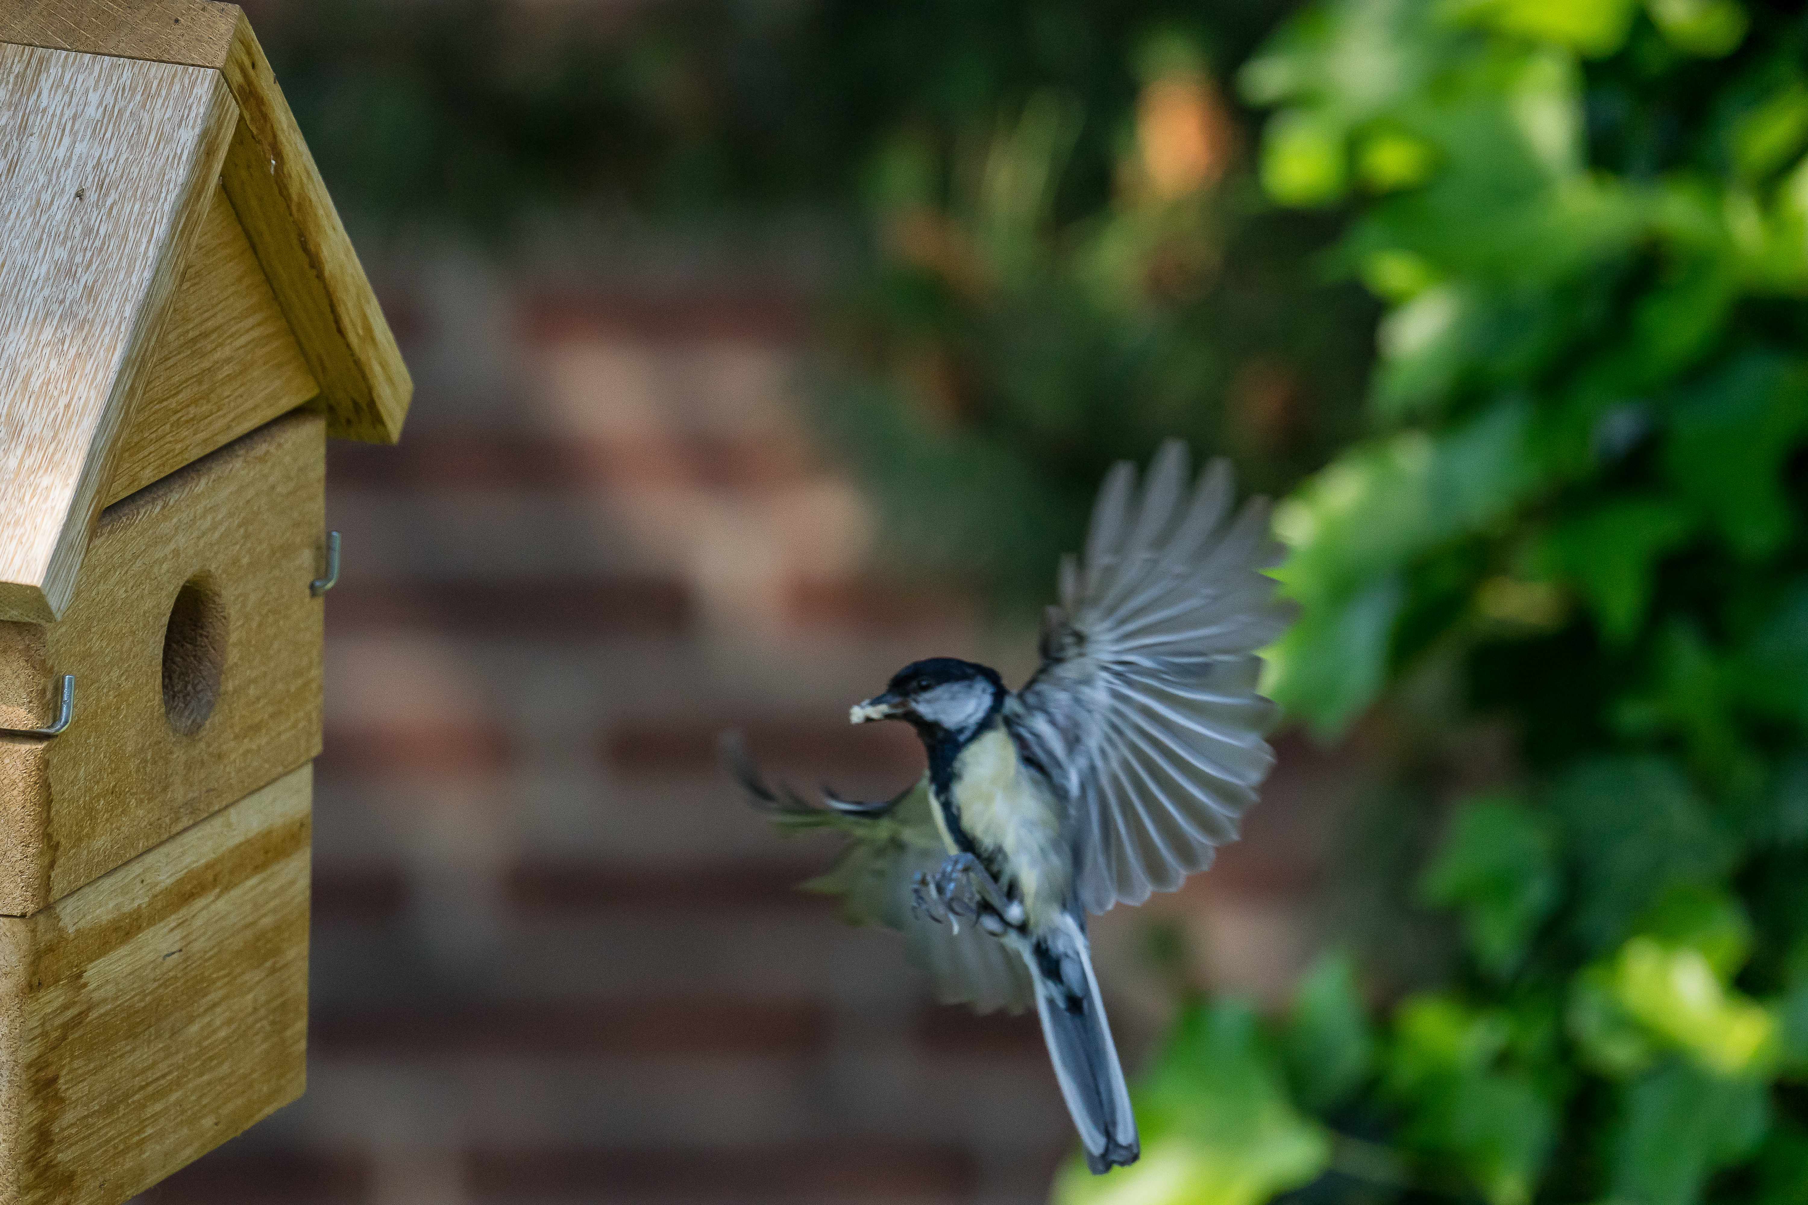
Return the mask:
[[1182, 1014], [1132, 1097], [1143, 1158], [1108, 1176], [1069, 1163], [1056, 1205], [1262, 1205], [1331, 1162], [1329, 1136], [1287, 1098], [1255, 1014], [1233, 1001]]

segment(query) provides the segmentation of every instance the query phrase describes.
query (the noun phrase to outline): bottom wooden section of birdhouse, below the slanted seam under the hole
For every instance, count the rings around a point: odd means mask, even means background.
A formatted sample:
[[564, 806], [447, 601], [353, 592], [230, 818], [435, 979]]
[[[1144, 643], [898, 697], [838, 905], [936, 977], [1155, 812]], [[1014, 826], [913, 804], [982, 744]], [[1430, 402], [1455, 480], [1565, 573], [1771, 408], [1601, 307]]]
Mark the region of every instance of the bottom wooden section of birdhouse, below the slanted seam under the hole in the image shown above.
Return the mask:
[[118, 1205], [302, 1095], [311, 789], [0, 920], [0, 1205]]

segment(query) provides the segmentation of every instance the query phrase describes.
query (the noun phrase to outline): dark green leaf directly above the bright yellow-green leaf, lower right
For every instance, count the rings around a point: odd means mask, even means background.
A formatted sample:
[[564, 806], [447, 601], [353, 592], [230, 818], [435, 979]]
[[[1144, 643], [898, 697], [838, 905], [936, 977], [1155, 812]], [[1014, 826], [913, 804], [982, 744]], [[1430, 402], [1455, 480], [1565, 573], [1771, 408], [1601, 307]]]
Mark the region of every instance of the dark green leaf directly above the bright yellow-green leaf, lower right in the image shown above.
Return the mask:
[[1577, 864], [1571, 925], [1591, 950], [1616, 947], [1665, 891], [1716, 878], [1734, 856], [1689, 780], [1660, 757], [1582, 762], [1548, 800]]

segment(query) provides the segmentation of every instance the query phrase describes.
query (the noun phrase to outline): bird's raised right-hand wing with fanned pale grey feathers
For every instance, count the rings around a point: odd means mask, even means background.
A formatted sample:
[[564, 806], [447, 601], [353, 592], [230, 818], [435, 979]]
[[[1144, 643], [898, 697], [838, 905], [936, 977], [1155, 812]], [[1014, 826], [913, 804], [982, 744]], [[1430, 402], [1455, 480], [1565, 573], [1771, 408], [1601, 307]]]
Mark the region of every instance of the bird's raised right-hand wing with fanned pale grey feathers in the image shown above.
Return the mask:
[[1061, 562], [1041, 668], [1005, 706], [1018, 746], [1072, 808], [1092, 912], [1210, 865], [1275, 762], [1257, 649], [1291, 621], [1260, 573], [1282, 549], [1266, 499], [1233, 515], [1226, 461], [1197, 486], [1188, 477], [1179, 441], [1141, 491], [1128, 462], [1106, 475], [1083, 562]]

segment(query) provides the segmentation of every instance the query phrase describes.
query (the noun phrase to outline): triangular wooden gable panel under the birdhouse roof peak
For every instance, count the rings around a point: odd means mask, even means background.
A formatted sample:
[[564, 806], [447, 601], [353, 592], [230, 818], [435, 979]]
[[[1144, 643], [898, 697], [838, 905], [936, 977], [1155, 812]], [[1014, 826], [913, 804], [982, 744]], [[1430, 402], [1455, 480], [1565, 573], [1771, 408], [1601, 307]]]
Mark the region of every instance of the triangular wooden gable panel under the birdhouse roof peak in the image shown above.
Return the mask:
[[103, 497], [118, 502], [318, 392], [231, 202], [215, 186]]

